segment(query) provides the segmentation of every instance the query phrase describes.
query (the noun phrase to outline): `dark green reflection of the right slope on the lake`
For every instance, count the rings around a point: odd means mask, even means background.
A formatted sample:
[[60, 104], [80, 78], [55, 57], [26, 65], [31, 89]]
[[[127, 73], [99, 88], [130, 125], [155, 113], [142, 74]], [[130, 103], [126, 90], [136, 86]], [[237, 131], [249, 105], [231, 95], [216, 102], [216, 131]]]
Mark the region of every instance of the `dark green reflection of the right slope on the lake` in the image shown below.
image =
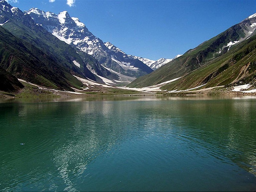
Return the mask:
[[[179, 111], [185, 125], [191, 125], [191, 129], [185, 128], [183, 134], [210, 149], [212, 155], [228, 158], [256, 174], [255, 102], [209, 100], [198, 104], [184, 104]], [[194, 130], [201, 130], [201, 133], [193, 134]]]

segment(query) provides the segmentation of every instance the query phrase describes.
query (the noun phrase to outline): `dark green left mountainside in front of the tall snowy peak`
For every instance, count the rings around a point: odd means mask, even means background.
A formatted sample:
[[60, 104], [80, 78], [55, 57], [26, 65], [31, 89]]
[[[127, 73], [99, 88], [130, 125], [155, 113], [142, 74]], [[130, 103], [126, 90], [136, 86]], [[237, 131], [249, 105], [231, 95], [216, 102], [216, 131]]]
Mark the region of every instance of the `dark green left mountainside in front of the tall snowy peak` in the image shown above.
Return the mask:
[[[38, 84], [51, 82], [65, 89], [71, 89], [71, 85], [77, 87], [78, 84], [81, 84], [73, 75], [89, 78], [99, 83], [104, 83], [101, 77], [119, 80], [116, 74], [102, 67], [91, 55], [60, 41], [42, 26], [36, 24], [28, 14], [22, 12], [17, 7], [13, 7], [4, 0], [0, 0], [0, 25], [11, 32], [13, 36], [20, 38], [21, 41], [26, 41], [25, 44], [28, 46], [22, 52], [22, 54], [25, 53], [26, 56], [31, 57], [30, 60], [26, 59], [26, 65], [24, 63], [22, 64], [20, 60], [12, 61], [12, 58], [15, 57], [10, 56], [9, 59], [11, 60], [10, 64], [12, 66], [6, 66], [10, 67], [8, 71], [15, 69], [16, 76], [21, 79], [30, 82], [37, 81], [34, 83]], [[12, 41], [10, 40], [10, 42]], [[22, 45], [22, 42], [17, 42], [17, 44]], [[6, 46], [8, 46], [8, 43]], [[11, 53], [15, 53], [15, 51], [11, 51]], [[19, 56], [21, 54], [17, 53], [14, 55]], [[39, 59], [40, 62], [33, 61], [32, 63], [36, 65], [31, 64], [31, 60], [33, 59]], [[21, 68], [17, 67], [21, 64]], [[39, 77], [35, 78], [36, 76]], [[75, 86], [74, 83], [76, 84]]]

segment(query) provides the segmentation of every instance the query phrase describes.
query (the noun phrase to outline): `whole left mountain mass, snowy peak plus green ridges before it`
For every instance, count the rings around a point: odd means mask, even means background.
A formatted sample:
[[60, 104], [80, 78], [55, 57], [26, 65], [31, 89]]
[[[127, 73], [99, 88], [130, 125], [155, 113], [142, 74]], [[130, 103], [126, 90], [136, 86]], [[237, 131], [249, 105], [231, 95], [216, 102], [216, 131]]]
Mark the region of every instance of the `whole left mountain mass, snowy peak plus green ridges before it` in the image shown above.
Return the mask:
[[[27, 65], [29, 62], [24, 60], [25, 64], [18, 70], [17, 66], [21, 64], [13, 60], [16, 55], [12, 56], [11, 51], [7, 53], [7, 49], [4, 50], [9, 57], [2, 59], [1, 66], [16, 77], [32, 83], [72, 90], [71, 87], [80, 89], [82, 86], [74, 75], [102, 84], [105, 84], [104, 78], [113, 84], [127, 84], [153, 71], [111, 43], [103, 43], [78, 18], [71, 18], [66, 11], [58, 15], [37, 8], [22, 12], [0, 0], [0, 26], [7, 29], [2, 30], [3, 36], [12, 34], [12, 39], [15, 38], [10, 44], [19, 41], [26, 48], [27, 52], [19, 53], [19, 57], [22, 54], [26, 55], [24, 58], [29, 55], [38, 61], [36, 65], [41, 63], [40, 67], [44, 66], [42, 72], [39, 66]], [[22, 50], [18, 45], [16, 48], [14, 52]], [[9, 62], [9, 65], [4, 61]], [[16, 69], [12, 71], [13, 68]]]

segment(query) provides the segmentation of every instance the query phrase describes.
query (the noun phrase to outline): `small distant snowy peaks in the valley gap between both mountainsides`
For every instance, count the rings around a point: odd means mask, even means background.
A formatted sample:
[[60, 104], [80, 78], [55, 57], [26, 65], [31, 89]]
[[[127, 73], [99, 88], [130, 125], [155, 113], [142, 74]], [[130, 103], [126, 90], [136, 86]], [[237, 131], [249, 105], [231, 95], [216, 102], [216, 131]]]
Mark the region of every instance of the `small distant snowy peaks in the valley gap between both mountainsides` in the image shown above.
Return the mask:
[[150, 59], [143, 58], [143, 57], [128, 55], [128, 57], [130, 57], [130, 58], [138, 59], [138, 60], [142, 61], [143, 63], [145, 63], [148, 67], [150, 67], [153, 70], [156, 70], [156, 69], [162, 67], [164, 64], [169, 63], [170, 61], [172, 61], [180, 56], [181, 55], [176, 55], [173, 59], [160, 58], [159, 60], [150, 60]]

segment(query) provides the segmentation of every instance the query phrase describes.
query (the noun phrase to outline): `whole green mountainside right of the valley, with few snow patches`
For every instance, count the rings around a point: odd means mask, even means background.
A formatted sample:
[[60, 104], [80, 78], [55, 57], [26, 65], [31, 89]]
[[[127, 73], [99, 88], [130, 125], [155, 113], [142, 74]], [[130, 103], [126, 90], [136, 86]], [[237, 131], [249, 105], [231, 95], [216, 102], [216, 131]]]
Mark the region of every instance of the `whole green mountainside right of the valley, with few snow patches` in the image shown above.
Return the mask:
[[256, 86], [256, 14], [188, 50], [129, 87], [147, 87], [168, 82], [162, 90], [187, 90], [197, 86]]

